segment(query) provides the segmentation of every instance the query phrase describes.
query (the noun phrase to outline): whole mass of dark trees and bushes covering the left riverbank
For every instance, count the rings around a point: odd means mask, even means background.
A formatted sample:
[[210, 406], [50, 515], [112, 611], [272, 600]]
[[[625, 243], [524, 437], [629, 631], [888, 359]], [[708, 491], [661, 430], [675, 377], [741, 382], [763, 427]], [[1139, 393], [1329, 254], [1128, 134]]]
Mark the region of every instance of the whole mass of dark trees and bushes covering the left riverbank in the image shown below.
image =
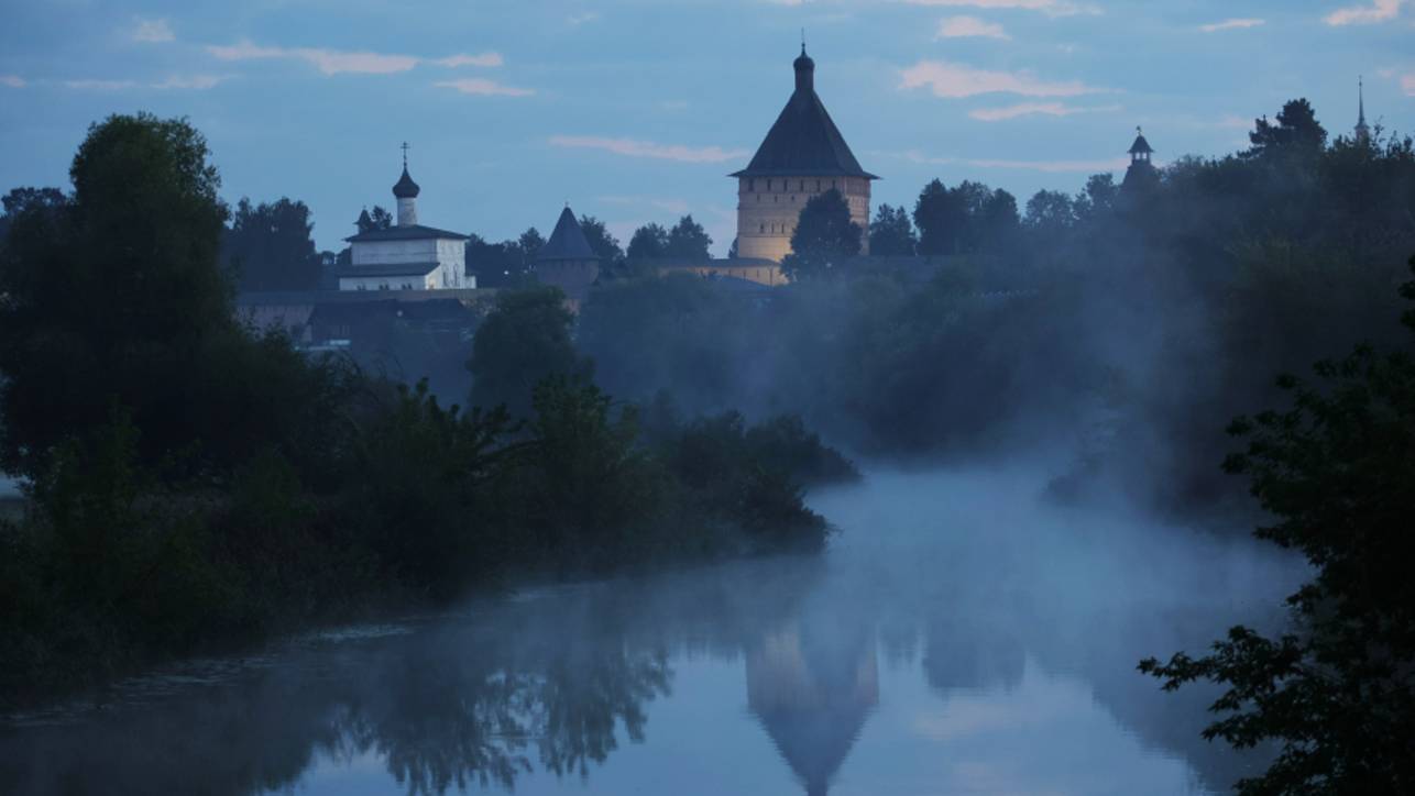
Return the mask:
[[802, 489], [856, 476], [794, 417], [617, 403], [548, 288], [473, 341], [495, 409], [243, 327], [184, 120], [95, 124], [71, 178], [0, 240], [0, 471], [28, 484], [0, 519], [0, 704], [529, 573], [818, 550]]

